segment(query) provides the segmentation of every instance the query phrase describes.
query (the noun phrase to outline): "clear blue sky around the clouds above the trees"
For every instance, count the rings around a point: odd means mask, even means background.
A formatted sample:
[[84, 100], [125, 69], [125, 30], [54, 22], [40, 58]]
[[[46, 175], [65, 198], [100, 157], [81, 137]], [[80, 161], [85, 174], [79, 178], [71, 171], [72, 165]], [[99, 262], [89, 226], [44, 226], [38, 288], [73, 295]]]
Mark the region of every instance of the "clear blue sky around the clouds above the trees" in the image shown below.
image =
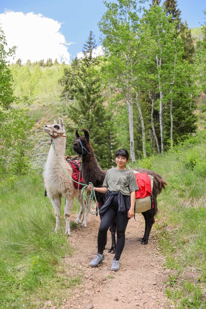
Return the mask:
[[[189, 27], [198, 28], [200, 24], [204, 23], [205, 3], [204, 0], [178, 0], [182, 19], [187, 20]], [[148, 6], [147, 3], [146, 7]], [[66, 42], [74, 42], [67, 47], [70, 58], [81, 52], [90, 30], [94, 32], [97, 44], [100, 44], [97, 23], [105, 12], [105, 6], [101, 0], [1, 0], [0, 13], [5, 10], [23, 12], [24, 14], [40, 13], [62, 23], [59, 31], [64, 35]], [[15, 25], [13, 26], [15, 27]]]

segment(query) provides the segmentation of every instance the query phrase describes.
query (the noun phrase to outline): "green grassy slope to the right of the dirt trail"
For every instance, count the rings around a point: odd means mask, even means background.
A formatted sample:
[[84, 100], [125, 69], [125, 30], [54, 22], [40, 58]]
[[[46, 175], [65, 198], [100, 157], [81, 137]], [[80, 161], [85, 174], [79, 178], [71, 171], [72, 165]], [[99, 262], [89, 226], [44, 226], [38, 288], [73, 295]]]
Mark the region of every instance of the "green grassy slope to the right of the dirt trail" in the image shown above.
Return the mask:
[[206, 138], [191, 138], [151, 162], [168, 182], [155, 222], [165, 269], [166, 295], [178, 309], [206, 308]]

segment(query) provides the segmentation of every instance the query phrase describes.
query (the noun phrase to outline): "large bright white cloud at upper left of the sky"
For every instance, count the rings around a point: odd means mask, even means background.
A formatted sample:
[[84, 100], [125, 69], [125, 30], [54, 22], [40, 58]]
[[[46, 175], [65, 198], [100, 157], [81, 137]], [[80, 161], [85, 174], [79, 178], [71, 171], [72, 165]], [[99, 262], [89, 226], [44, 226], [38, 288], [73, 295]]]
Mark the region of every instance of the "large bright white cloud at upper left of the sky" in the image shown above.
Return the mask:
[[6, 11], [0, 14], [0, 23], [6, 36], [7, 45], [17, 46], [15, 62], [18, 58], [25, 63], [27, 59], [32, 62], [40, 59], [55, 58], [59, 62], [69, 63], [70, 54], [65, 37], [61, 32], [61, 23], [57, 20], [44, 17], [33, 12]]

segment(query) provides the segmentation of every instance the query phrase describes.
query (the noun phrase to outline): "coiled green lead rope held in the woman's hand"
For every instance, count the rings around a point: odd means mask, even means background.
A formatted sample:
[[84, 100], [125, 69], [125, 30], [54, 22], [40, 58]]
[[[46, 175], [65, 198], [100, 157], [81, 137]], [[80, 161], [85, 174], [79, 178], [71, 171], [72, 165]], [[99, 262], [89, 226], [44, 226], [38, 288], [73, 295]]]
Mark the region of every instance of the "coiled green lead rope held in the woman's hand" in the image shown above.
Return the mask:
[[[80, 159], [80, 167], [79, 167], [79, 181], [76, 181], [76, 180], [72, 179], [72, 177], [67, 175], [67, 173], [65, 172], [65, 170], [64, 170], [63, 166], [61, 165], [61, 162], [60, 162], [60, 160], [58, 158], [57, 150], [55, 148], [55, 145], [54, 145], [53, 141], [52, 141], [52, 146], [53, 146], [54, 153], [55, 153], [55, 156], [57, 158], [57, 161], [58, 161], [62, 171], [64, 172], [65, 176], [67, 178], [69, 178], [70, 180], [72, 180], [73, 182], [76, 182], [76, 184], [78, 184], [78, 190], [77, 190], [77, 217], [78, 217], [79, 222], [82, 223], [83, 220], [84, 220], [84, 213], [85, 213], [85, 201], [87, 202], [87, 207], [88, 207], [88, 210], [89, 210], [90, 214], [96, 215], [98, 213], [98, 211], [99, 211], [98, 202], [97, 202], [97, 199], [96, 199], [96, 196], [95, 196], [94, 185], [91, 182], [89, 182], [89, 184], [82, 184], [82, 183], [79, 182], [80, 181], [80, 177], [81, 177], [81, 171], [82, 171], [82, 162], [81, 162], [82, 161], [82, 156], [81, 156], [81, 159]], [[79, 186], [80, 185], [83, 187], [81, 195], [80, 195], [80, 200], [81, 200], [81, 198], [83, 196], [83, 218], [82, 218], [82, 221], [80, 221], [80, 218], [79, 218]], [[87, 187], [89, 185], [91, 185], [91, 193], [88, 196], [87, 195], [88, 191], [86, 192], [86, 189], [87, 189]], [[95, 199], [95, 202], [96, 202], [96, 205], [97, 205], [97, 209], [96, 209], [95, 213], [92, 212], [90, 210], [90, 207], [89, 207], [90, 201], [92, 201], [92, 206], [91, 207], [92, 207], [92, 209], [94, 209], [94, 202], [93, 202], [94, 199]]]

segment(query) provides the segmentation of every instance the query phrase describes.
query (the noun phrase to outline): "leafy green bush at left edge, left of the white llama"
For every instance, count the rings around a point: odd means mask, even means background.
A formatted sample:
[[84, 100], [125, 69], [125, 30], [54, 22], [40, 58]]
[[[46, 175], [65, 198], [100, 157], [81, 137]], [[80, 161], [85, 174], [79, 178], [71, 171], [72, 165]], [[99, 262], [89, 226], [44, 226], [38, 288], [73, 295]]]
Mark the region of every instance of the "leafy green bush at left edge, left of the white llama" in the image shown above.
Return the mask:
[[28, 138], [34, 124], [22, 109], [0, 110], [0, 121], [4, 125], [0, 132], [0, 160], [3, 175], [28, 174], [32, 171], [28, 158], [32, 140]]

